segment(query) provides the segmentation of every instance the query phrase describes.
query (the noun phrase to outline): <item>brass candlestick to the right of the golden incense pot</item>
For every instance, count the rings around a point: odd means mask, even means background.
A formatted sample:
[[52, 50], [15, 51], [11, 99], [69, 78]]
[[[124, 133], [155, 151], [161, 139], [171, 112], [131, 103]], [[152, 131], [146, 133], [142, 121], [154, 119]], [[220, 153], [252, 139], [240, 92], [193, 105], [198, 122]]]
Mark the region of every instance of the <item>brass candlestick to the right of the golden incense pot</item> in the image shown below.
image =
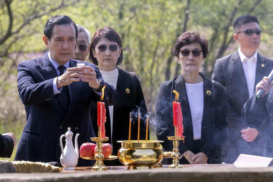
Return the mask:
[[178, 145], [179, 145], [179, 140], [184, 140], [184, 137], [167, 137], [168, 140], [173, 140], [173, 153], [171, 154], [171, 157], [173, 158], [173, 164], [169, 166], [169, 169], [173, 168], [183, 168], [181, 164], [179, 164], [179, 158], [181, 154], [178, 152]]

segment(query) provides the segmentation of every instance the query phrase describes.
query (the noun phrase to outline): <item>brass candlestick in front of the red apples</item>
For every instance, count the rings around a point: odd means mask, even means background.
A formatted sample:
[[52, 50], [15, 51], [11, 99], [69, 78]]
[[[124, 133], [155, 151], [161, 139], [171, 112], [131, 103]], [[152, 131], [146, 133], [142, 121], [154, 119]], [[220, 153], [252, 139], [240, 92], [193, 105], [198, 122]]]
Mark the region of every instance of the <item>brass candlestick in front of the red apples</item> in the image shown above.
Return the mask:
[[91, 168], [92, 171], [107, 171], [107, 167], [103, 164], [104, 155], [102, 154], [102, 142], [108, 140], [108, 137], [99, 138], [91, 137], [92, 141], [97, 142], [97, 154], [95, 155], [96, 164]]

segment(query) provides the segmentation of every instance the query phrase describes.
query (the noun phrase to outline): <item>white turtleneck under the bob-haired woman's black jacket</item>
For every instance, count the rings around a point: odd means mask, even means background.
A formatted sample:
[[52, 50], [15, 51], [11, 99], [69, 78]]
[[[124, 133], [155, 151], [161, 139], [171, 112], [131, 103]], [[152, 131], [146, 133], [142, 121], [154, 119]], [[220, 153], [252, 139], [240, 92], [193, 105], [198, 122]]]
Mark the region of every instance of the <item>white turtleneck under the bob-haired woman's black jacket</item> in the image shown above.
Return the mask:
[[[108, 84], [112, 85], [117, 88], [117, 78], [119, 77], [119, 70], [116, 68], [112, 71], [102, 71], [100, 70], [100, 73], [102, 74], [102, 78], [104, 79], [105, 82]], [[114, 106], [109, 106], [109, 115], [110, 115], [110, 123], [111, 123], [111, 144], [113, 145], [113, 109]]]

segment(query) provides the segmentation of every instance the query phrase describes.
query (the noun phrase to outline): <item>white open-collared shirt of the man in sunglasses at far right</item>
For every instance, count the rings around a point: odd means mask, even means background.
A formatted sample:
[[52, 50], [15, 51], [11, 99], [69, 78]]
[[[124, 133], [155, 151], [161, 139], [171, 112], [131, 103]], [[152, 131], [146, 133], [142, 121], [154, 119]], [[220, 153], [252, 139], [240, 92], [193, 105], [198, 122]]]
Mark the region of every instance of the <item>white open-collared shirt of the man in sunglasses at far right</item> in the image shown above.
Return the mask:
[[248, 89], [249, 98], [251, 98], [254, 93], [254, 87], [255, 87], [255, 75], [256, 75], [258, 53], [256, 51], [252, 57], [248, 58], [241, 52], [240, 47], [238, 49], [238, 52], [243, 64], [245, 78], [247, 80], [247, 89]]

